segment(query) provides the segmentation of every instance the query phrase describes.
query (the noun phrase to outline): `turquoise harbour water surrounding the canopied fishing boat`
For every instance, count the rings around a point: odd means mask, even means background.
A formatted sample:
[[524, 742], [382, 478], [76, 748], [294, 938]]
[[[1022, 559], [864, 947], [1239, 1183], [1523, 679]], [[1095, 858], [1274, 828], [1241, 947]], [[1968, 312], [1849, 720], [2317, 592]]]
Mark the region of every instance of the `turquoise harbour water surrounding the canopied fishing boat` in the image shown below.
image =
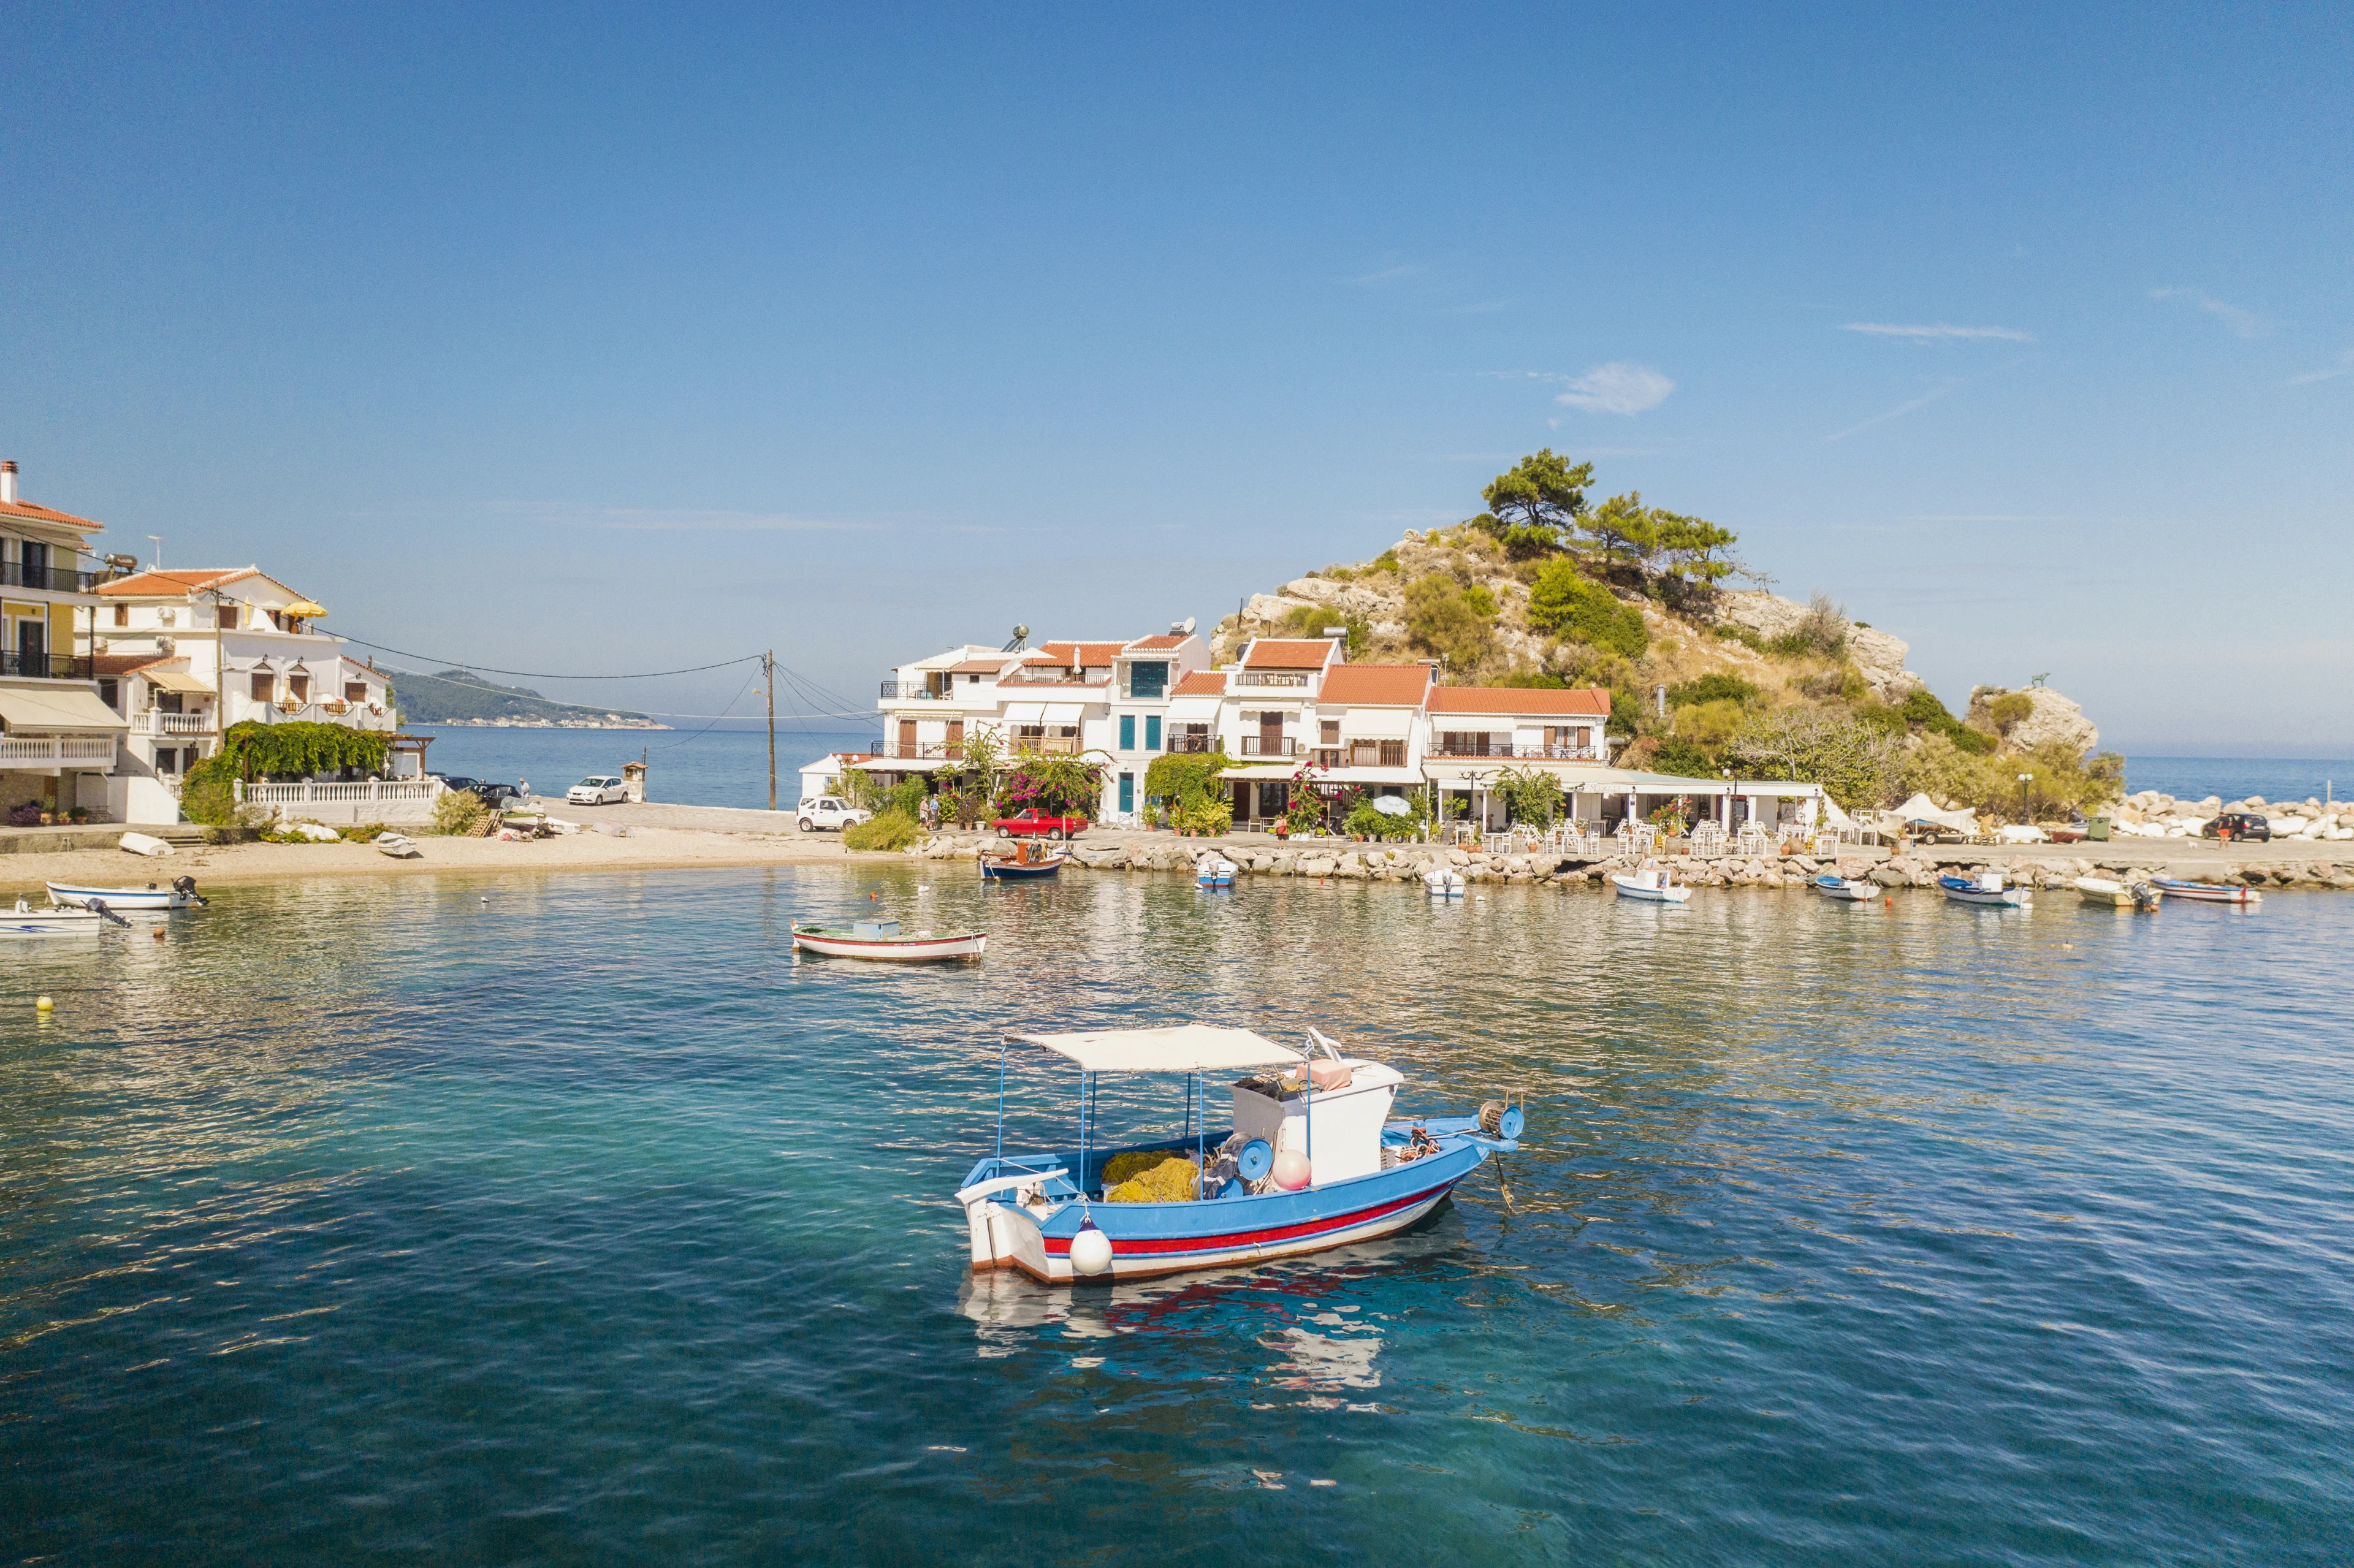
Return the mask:
[[[224, 890], [0, 1003], [14, 1559], [2323, 1563], [2354, 899], [1688, 911], [949, 869]], [[793, 913], [986, 918], [796, 963]], [[56, 998], [35, 1024], [31, 996]], [[1323, 1022], [1523, 1154], [1052, 1293], [1003, 1024]], [[1015, 1078], [1017, 1142], [1069, 1074]], [[1175, 1128], [1177, 1085], [1106, 1092]], [[1321, 1486], [1321, 1483], [1330, 1486]]]

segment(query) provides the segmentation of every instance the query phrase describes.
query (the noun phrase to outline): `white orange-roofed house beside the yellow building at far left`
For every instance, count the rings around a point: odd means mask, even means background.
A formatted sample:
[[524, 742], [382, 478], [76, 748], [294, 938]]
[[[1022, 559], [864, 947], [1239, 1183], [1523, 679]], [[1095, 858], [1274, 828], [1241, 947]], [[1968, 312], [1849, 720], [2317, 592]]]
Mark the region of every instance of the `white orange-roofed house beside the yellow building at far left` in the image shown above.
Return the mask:
[[[129, 723], [122, 768], [108, 784], [108, 815], [122, 822], [177, 822], [181, 777], [221, 751], [231, 725], [304, 720], [386, 735], [400, 727], [386, 676], [344, 655], [341, 638], [313, 626], [325, 610], [259, 567], [137, 572], [104, 584], [99, 603], [92, 631], [99, 692]], [[421, 775], [424, 742], [398, 749], [388, 768]], [[292, 815], [395, 822], [417, 812], [370, 817], [367, 808], [414, 805], [410, 796], [424, 798], [421, 789], [419, 782], [363, 798], [353, 789], [273, 784], [254, 798], [266, 793], [264, 803]]]

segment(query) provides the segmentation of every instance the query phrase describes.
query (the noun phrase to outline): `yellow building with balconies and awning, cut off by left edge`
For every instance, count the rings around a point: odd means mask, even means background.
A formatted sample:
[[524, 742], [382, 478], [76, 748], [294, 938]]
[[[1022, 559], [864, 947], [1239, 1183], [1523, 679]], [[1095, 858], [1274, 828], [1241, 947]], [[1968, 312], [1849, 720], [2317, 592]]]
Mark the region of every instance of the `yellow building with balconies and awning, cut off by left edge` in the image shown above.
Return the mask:
[[0, 812], [106, 810], [125, 725], [75, 650], [106, 577], [89, 558], [97, 532], [19, 497], [16, 464], [0, 464]]

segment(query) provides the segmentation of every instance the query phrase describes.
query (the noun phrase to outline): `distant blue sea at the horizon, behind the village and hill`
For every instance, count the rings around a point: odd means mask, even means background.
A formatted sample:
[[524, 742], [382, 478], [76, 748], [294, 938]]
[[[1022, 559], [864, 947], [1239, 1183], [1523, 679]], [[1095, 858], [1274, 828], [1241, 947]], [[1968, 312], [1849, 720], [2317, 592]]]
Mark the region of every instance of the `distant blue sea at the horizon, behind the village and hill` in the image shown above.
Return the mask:
[[[435, 772], [530, 782], [539, 793], [563, 793], [591, 772], [621, 772], [621, 763], [647, 763], [647, 798], [676, 805], [767, 805], [765, 730], [499, 730], [417, 727], [431, 735], [426, 765]], [[873, 751], [876, 730], [779, 730], [777, 800], [791, 808], [800, 789], [800, 765], [829, 751]], [[2161, 789], [2185, 800], [2222, 796], [2239, 800], [2342, 798], [2354, 789], [2354, 760], [2189, 758], [2128, 756], [2126, 789]]]

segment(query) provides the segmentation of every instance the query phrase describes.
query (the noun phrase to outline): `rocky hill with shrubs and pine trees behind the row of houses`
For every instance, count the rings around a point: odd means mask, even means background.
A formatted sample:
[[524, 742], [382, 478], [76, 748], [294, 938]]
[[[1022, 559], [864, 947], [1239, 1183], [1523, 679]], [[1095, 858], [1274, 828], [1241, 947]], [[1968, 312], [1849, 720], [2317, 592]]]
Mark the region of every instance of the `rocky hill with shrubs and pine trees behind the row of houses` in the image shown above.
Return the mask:
[[[1601, 685], [1622, 765], [1770, 770], [1848, 808], [1919, 789], [2057, 817], [2116, 796], [2121, 763], [2086, 763], [2100, 730], [2060, 692], [1980, 685], [1956, 718], [1904, 666], [1902, 638], [1822, 593], [1723, 586], [1742, 572], [1730, 530], [1638, 494], [1589, 506], [1589, 478], [1528, 457], [1485, 490], [1488, 513], [1255, 593], [1212, 650], [1224, 664], [1252, 636], [1344, 629], [1354, 662], [1436, 659], [1445, 685]], [[2020, 772], [2036, 775], [2024, 800]]]

